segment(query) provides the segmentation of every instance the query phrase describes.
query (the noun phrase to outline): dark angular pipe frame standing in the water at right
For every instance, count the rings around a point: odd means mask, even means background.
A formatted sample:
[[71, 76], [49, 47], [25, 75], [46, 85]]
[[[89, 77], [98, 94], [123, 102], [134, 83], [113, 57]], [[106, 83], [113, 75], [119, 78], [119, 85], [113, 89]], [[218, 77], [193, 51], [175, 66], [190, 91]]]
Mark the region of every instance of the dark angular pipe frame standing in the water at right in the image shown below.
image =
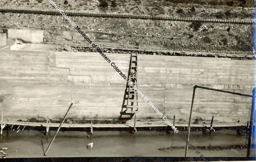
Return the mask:
[[[256, 123], [254, 116], [255, 116], [255, 111], [254, 111], [254, 106], [255, 106], [255, 99], [256, 99], [256, 88], [253, 88], [253, 95], [249, 94], [242, 94], [242, 93], [236, 93], [236, 92], [231, 92], [231, 91], [225, 91], [225, 90], [218, 90], [215, 88], [208, 88], [208, 87], [203, 87], [203, 86], [197, 86], [195, 85], [193, 87], [193, 96], [192, 96], [192, 103], [191, 103], [191, 109], [190, 109], [190, 116], [189, 116], [189, 123], [188, 123], [188, 135], [187, 135], [187, 141], [189, 141], [189, 134], [190, 134], [190, 126], [191, 126], [191, 117], [192, 117], [192, 112], [193, 112], [193, 105], [194, 105], [194, 99], [195, 99], [195, 92], [196, 88], [201, 88], [201, 89], [206, 89], [206, 90], [212, 90], [212, 91], [218, 91], [218, 92], [223, 92], [223, 93], [229, 93], [229, 94], [235, 94], [235, 95], [241, 95], [244, 97], [252, 97], [252, 109], [251, 109], [251, 120], [250, 120], [250, 127], [249, 127], [249, 139], [248, 139], [248, 147], [247, 147], [247, 155], [246, 157], [250, 156], [251, 152], [251, 140], [252, 140], [252, 131], [253, 131], [253, 126]], [[188, 154], [188, 142], [186, 144], [186, 151], [185, 151], [185, 157], [187, 157]]]

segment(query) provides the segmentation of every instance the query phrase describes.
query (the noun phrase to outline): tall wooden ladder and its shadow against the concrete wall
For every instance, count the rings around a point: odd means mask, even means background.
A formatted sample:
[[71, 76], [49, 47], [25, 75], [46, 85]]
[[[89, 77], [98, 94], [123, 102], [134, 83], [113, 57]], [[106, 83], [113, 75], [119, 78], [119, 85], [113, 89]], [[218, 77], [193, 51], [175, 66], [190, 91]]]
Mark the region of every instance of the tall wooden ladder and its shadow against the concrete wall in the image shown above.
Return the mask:
[[[135, 88], [137, 86], [137, 73], [138, 73], [138, 53], [131, 54], [128, 80], [132, 82], [129, 85], [127, 82], [124, 94], [124, 102], [122, 106], [122, 111], [120, 112], [120, 119], [131, 119], [135, 113], [138, 112], [138, 93]], [[133, 87], [134, 85], [134, 87]], [[124, 110], [125, 109], [125, 110]], [[124, 110], [124, 111], [123, 111]], [[123, 115], [129, 115], [130, 117], [123, 118]]]

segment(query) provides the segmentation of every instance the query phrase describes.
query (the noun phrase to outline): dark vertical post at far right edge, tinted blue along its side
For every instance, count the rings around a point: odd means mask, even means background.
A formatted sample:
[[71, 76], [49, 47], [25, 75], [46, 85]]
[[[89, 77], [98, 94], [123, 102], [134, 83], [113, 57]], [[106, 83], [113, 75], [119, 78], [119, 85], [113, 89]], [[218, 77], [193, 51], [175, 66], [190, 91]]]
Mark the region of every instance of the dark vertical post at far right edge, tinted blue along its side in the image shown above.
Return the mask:
[[255, 99], [256, 99], [256, 88], [252, 90], [252, 109], [251, 109], [251, 118], [250, 118], [250, 126], [249, 126], [249, 138], [248, 138], [248, 146], [247, 146], [247, 154], [246, 157], [250, 157], [251, 154], [251, 146], [252, 146], [252, 132], [253, 132], [253, 123], [254, 123], [254, 108], [255, 108]]

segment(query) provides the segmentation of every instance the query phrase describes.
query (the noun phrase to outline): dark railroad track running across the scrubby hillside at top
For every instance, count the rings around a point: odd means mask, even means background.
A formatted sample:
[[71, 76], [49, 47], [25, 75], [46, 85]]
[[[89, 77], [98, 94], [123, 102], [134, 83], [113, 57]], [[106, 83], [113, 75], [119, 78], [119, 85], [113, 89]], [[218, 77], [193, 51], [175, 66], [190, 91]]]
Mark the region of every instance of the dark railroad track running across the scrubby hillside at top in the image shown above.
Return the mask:
[[[0, 12], [24, 13], [24, 14], [42, 14], [42, 15], [59, 15], [58, 11], [40, 11], [40, 10], [10, 10], [0, 9]], [[233, 19], [203, 19], [203, 18], [178, 18], [167, 16], [139, 16], [139, 15], [116, 15], [116, 14], [89, 14], [82, 12], [69, 12], [65, 14], [70, 16], [100, 17], [100, 18], [122, 18], [122, 19], [151, 19], [151, 20], [168, 20], [184, 22], [210, 22], [210, 23], [233, 23], [233, 24], [255, 24], [256, 20], [233, 20]]]

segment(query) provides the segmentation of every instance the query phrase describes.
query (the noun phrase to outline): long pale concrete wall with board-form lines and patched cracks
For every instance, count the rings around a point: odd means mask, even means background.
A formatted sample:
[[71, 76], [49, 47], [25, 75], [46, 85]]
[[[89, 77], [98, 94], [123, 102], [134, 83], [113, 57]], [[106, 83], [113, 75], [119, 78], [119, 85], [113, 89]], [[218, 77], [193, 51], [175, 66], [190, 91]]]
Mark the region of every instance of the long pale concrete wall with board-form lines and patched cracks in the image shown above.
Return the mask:
[[[128, 75], [130, 54], [107, 54]], [[188, 122], [193, 86], [252, 94], [255, 61], [227, 58], [138, 56], [138, 88], [169, 119]], [[110, 119], [120, 116], [127, 80], [99, 53], [0, 50], [4, 120], [31, 117]], [[162, 120], [138, 96], [138, 118]], [[251, 98], [197, 89], [194, 121], [249, 120]]]

